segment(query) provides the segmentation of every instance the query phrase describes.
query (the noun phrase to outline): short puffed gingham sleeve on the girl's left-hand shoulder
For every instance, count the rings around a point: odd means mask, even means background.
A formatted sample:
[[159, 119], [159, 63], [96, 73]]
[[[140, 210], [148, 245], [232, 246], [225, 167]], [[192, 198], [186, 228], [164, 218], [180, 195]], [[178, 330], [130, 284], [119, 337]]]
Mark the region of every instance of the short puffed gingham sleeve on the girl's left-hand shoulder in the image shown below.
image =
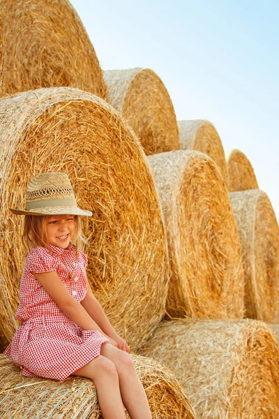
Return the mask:
[[58, 258], [50, 255], [47, 249], [36, 247], [31, 250], [25, 262], [25, 268], [32, 273], [56, 272]]

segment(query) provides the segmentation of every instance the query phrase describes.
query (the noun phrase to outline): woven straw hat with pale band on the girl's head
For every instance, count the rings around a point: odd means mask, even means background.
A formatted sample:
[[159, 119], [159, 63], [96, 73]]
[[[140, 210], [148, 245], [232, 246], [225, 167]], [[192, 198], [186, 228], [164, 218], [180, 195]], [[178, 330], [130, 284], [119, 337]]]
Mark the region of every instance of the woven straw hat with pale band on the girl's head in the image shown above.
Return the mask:
[[75, 194], [67, 173], [41, 173], [27, 186], [25, 210], [10, 208], [17, 215], [73, 214], [91, 216], [91, 211], [77, 207]]

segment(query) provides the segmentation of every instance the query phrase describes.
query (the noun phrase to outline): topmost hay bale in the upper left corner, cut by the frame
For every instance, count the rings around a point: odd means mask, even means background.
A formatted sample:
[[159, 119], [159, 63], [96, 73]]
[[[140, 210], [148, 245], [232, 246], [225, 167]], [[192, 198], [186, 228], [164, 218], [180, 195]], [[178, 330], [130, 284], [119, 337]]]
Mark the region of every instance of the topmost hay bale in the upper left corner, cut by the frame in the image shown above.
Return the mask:
[[0, 95], [70, 86], [107, 96], [96, 52], [68, 0], [1, 0]]

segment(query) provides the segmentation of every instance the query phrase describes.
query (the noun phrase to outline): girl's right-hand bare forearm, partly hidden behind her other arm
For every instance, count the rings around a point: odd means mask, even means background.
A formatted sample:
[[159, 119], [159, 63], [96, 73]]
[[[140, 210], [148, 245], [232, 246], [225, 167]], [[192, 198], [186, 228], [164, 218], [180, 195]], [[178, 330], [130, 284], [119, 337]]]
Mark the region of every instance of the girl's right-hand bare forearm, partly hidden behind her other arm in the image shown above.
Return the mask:
[[126, 341], [117, 335], [116, 331], [110, 324], [109, 319], [105, 315], [105, 311], [103, 310], [98, 300], [96, 300], [96, 297], [94, 297], [89, 285], [87, 287], [87, 293], [84, 297], [84, 300], [82, 300], [80, 304], [82, 304], [82, 307], [84, 307], [89, 316], [93, 318], [93, 321], [96, 321], [96, 323], [105, 332], [105, 334], [116, 341], [117, 346], [120, 349], [123, 351], [130, 351]]

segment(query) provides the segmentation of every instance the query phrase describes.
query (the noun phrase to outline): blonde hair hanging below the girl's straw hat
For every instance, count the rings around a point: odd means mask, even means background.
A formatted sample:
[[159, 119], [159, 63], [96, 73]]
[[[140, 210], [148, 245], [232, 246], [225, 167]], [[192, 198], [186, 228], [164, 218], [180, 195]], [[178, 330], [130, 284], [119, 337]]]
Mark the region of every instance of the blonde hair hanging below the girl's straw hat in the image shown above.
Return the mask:
[[[52, 215], [26, 215], [24, 217], [22, 241], [29, 251], [33, 247], [47, 247], [47, 221], [51, 216]], [[87, 245], [87, 242], [82, 234], [80, 216], [74, 215], [74, 217], [75, 235], [73, 236], [73, 244], [75, 244], [77, 249], [82, 250], [84, 244]]]

